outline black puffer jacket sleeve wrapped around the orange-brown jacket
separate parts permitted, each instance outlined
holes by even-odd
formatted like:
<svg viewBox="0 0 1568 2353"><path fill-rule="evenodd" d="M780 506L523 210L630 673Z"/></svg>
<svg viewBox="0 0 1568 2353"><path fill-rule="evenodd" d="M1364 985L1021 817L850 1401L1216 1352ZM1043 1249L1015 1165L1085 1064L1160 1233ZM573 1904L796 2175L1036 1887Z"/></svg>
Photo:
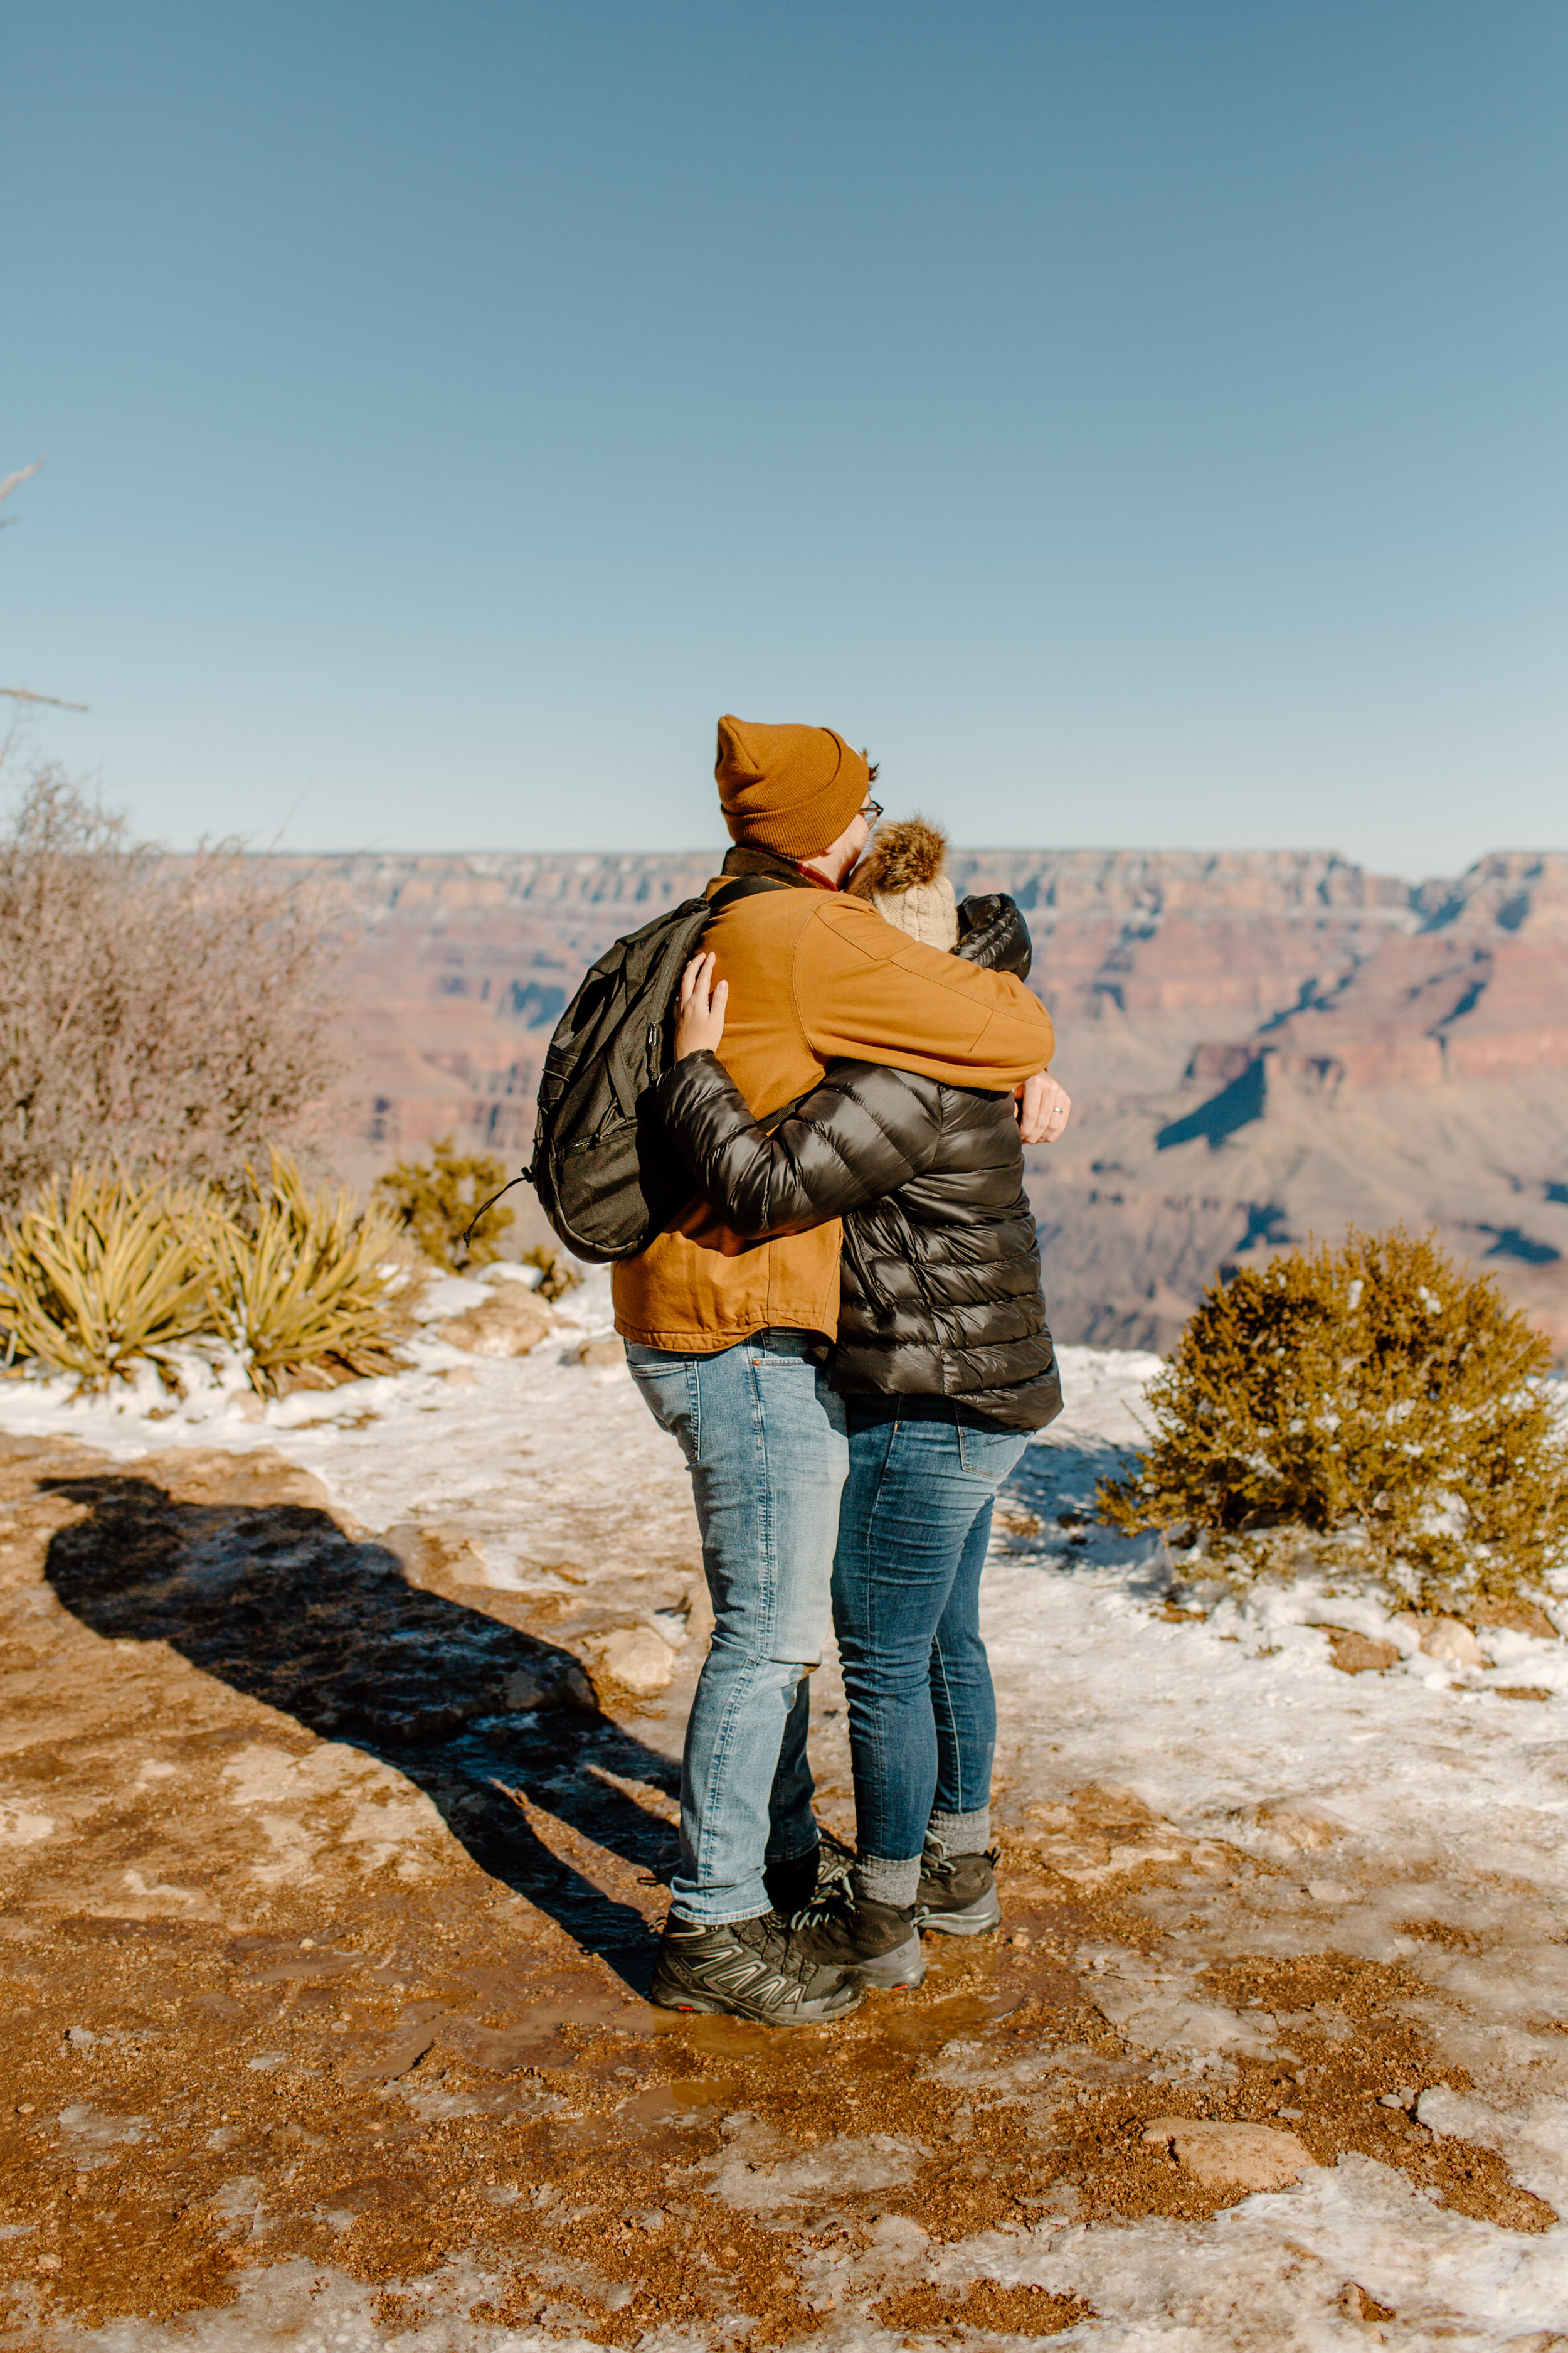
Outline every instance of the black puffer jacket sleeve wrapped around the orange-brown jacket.
<svg viewBox="0 0 1568 2353"><path fill-rule="evenodd" d="M940 1087L872 1061L839 1061L773 1134L717 1054L686 1054L658 1108L724 1224L745 1240L804 1233L893 1193L936 1158Z"/></svg>

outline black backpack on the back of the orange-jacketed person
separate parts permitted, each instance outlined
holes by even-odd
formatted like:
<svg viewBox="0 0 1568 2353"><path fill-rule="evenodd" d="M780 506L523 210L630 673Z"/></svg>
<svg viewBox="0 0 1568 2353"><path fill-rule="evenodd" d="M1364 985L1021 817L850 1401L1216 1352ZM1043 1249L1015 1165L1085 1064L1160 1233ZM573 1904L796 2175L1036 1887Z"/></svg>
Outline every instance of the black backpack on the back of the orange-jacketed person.
<svg viewBox="0 0 1568 2353"><path fill-rule="evenodd" d="M741 875L712 899L682 899L607 948L559 1016L538 1080L534 1160L512 1184L534 1186L574 1259L635 1259L691 1200L691 1169L654 1106L670 1068L675 991L722 908L788 887Z"/></svg>

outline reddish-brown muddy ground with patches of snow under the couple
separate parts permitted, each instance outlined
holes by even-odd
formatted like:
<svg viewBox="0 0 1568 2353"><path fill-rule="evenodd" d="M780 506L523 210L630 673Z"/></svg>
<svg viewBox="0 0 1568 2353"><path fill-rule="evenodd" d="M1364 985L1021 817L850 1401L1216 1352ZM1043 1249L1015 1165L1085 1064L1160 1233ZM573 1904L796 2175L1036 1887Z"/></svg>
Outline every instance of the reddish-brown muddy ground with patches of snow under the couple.
<svg viewBox="0 0 1568 2353"><path fill-rule="evenodd" d="M1549 1621L1182 1586L1088 1518L1150 1360L1070 1351L990 1579L1004 1932L668 2017L679 1461L592 1294L416 1353L0 1398L0 2344L1568 2344Z"/></svg>

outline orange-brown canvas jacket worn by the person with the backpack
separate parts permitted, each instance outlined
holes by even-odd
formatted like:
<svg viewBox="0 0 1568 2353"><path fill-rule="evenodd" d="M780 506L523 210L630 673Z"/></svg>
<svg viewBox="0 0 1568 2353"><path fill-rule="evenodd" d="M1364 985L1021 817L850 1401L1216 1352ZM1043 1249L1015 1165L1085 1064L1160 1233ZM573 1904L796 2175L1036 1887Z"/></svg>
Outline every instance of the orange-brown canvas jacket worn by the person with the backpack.
<svg viewBox="0 0 1568 2353"><path fill-rule="evenodd" d="M722 889L708 885L708 894ZM811 887L757 892L705 939L729 981L719 1061L766 1118L830 1061L884 1061L952 1087L1016 1087L1044 1071L1051 1014L1023 981L926 948L863 899ZM839 1221L745 1245L712 1212L661 1233L611 1271L616 1332L708 1355L780 1325L839 1329Z"/></svg>

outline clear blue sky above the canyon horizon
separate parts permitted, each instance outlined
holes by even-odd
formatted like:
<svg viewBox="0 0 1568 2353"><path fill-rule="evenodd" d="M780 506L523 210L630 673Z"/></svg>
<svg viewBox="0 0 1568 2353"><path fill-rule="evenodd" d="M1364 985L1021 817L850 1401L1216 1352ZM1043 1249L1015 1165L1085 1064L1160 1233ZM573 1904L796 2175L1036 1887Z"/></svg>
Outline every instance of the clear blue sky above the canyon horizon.
<svg viewBox="0 0 1568 2353"><path fill-rule="evenodd" d="M1563 0L0 5L0 685L172 840L1568 840Z"/></svg>

